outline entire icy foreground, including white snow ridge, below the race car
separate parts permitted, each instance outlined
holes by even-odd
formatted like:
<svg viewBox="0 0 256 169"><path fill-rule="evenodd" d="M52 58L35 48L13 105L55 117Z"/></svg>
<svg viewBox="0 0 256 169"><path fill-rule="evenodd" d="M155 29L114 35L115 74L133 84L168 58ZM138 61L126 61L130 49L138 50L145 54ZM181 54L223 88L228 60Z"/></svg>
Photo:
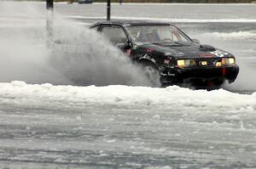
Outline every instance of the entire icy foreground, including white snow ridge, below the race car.
<svg viewBox="0 0 256 169"><path fill-rule="evenodd" d="M255 168L256 93L0 83L0 168Z"/></svg>

